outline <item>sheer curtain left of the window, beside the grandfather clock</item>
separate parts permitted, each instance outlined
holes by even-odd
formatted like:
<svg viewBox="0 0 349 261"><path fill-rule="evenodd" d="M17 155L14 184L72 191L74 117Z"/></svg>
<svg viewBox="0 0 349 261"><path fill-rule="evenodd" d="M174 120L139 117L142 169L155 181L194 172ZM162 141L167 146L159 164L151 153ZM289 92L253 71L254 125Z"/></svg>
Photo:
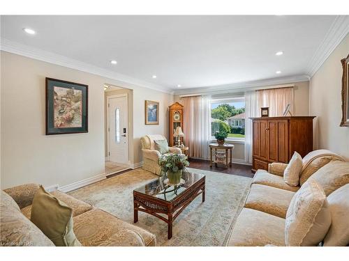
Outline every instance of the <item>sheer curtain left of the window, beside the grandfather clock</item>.
<svg viewBox="0 0 349 261"><path fill-rule="evenodd" d="M189 157L209 158L211 106L209 96L181 98L184 105L184 143L189 146Z"/></svg>

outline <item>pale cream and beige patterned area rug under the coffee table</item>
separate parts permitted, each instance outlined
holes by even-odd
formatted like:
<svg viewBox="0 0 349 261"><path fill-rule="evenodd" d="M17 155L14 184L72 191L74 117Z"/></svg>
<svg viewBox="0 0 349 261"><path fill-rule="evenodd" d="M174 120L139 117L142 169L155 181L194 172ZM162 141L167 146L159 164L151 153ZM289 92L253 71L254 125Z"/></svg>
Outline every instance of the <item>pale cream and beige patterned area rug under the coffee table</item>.
<svg viewBox="0 0 349 261"><path fill-rule="evenodd" d="M179 214L173 223L172 238L167 238L167 223L144 212L138 212L135 226L156 235L158 246L224 246L244 205L251 178L195 168L189 171L206 175L206 200L202 203L198 196ZM157 177L137 168L69 194L133 223L133 189Z"/></svg>

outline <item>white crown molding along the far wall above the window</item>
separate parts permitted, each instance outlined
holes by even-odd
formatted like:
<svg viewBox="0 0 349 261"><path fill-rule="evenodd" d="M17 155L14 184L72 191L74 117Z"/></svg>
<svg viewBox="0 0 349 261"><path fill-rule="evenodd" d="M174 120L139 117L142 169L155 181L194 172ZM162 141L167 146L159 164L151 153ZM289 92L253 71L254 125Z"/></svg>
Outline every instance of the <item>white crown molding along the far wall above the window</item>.
<svg viewBox="0 0 349 261"><path fill-rule="evenodd" d="M236 84L226 84L221 86L209 86L203 88L188 88L183 90L175 90L174 95L209 95L209 94L223 94L223 93L238 93L247 90L256 90L258 88L265 88L272 86L272 88L281 87L286 84L294 84L299 81L309 81L308 75L293 75L289 77L279 77L271 79L262 79L258 81L245 81Z"/></svg>

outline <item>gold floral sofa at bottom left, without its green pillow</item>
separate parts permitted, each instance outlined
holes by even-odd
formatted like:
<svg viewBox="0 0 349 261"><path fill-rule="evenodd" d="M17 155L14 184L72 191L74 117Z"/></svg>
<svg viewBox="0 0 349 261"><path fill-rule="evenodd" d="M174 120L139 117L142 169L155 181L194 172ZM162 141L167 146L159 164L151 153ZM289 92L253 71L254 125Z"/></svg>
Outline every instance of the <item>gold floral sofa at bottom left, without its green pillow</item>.
<svg viewBox="0 0 349 261"><path fill-rule="evenodd" d="M1 191L0 246L54 246L30 221L37 184ZM73 209L73 230L83 246L156 246L155 235L60 191L52 195Z"/></svg>

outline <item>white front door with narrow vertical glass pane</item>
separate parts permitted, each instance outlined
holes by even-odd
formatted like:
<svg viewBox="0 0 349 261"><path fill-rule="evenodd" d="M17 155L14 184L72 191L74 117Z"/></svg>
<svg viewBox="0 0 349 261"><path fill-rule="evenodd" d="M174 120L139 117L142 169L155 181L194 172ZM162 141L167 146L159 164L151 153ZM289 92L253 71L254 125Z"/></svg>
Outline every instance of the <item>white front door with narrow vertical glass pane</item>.
<svg viewBox="0 0 349 261"><path fill-rule="evenodd" d="M127 95L107 97L108 156L119 164L128 164Z"/></svg>

